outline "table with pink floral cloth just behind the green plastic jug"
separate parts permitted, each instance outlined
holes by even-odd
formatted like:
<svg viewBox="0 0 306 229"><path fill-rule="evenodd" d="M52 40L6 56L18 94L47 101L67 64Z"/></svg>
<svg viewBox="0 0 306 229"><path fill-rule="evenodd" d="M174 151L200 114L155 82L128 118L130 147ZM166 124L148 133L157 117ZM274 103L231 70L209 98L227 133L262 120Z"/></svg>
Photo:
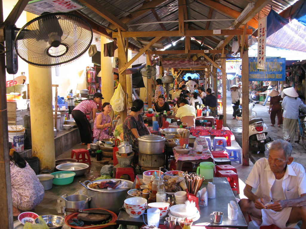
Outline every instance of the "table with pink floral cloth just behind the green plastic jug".
<svg viewBox="0 0 306 229"><path fill-rule="evenodd" d="M178 154L175 149L173 149L174 158L176 160L176 170L182 170L185 162L214 162L214 158L208 148L207 140L204 137L197 137L196 141L203 146L202 154L197 154L196 150L191 150L188 154Z"/></svg>

